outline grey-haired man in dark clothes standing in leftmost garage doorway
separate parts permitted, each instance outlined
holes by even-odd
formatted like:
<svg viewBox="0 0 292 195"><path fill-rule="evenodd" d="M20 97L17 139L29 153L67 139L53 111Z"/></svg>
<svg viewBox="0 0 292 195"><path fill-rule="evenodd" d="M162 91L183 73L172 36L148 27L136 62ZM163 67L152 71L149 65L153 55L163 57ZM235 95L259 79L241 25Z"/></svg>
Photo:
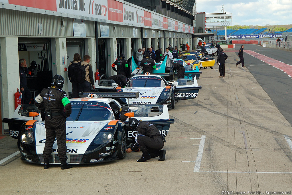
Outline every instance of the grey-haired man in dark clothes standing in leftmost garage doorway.
<svg viewBox="0 0 292 195"><path fill-rule="evenodd" d="M32 93L27 88L26 75L28 74L28 68L25 59L19 60L19 79L20 79L20 91L22 93L22 104L29 104L32 98Z"/></svg>

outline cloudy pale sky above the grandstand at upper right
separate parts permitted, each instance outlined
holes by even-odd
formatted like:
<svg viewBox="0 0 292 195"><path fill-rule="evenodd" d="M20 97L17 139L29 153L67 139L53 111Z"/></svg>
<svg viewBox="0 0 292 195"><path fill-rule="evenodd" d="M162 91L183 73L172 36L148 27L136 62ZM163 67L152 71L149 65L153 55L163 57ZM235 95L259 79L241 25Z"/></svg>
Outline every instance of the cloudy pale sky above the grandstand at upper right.
<svg viewBox="0 0 292 195"><path fill-rule="evenodd" d="M292 0L197 0L197 12L232 13L232 25L292 24Z"/></svg>

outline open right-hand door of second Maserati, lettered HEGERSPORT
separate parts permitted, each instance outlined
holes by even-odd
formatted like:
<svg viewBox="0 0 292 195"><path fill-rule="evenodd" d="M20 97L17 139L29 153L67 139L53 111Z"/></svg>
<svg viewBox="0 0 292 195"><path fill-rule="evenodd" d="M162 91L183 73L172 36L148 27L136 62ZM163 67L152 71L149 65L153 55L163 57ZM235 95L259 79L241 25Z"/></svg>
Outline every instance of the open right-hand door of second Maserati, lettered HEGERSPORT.
<svg viewBox="0 0 292 195"><path fill-rule="evenodd" d="M194 78L178 79L172 84L174 86L175 101L195 99L199 94L199 89L202 89L202 87L198 86L197 80Z"/></svg>

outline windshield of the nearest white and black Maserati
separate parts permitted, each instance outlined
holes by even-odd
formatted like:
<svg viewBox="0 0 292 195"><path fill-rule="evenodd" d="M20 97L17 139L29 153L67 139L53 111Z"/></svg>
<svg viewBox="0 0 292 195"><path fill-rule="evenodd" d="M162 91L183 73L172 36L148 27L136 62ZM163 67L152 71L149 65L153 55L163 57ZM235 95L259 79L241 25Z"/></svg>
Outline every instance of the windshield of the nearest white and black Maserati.
<svg viewBox="0 0 292 195"><path fill-rule="evenodd" d="M109 108L99 105L72 105L72 113L67 121L102 121L114 120Z"/></svg>

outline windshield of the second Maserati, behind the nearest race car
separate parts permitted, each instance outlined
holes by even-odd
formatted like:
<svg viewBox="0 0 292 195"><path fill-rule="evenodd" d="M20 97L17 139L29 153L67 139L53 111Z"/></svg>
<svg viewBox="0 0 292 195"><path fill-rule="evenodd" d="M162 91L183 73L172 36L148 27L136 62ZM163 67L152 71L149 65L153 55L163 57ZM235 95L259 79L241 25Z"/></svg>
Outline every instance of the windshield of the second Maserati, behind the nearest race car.
<svg viewBox="0 0 292 195"><path fill-rule="evenodd" d="M165 87L165 84L159 77L135 77L127 83L126 87Z"/></svg>

